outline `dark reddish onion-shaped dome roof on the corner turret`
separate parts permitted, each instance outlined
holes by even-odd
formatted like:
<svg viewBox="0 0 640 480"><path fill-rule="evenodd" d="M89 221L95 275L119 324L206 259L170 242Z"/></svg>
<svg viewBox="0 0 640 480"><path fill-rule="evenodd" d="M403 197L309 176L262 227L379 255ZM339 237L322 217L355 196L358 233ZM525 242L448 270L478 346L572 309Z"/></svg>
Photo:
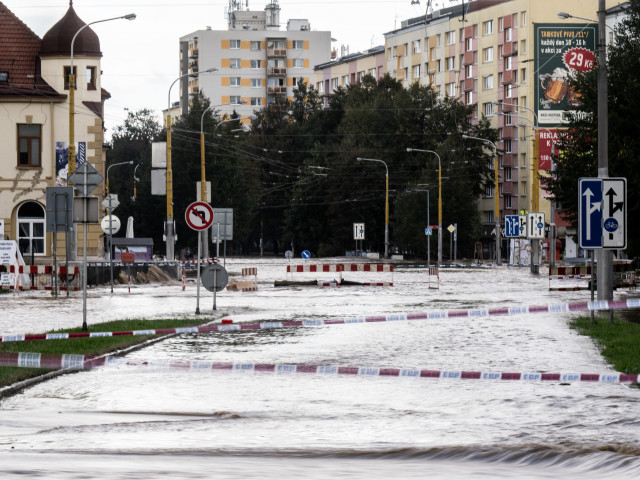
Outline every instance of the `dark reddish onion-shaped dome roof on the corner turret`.
<svg viewBox="0 0 640 480"><path fill-rule="evenodd" d="M73 2L69 2L67 13L49 29L42 37L40 55L47 56L71 56L71 40L78 31L85 26L80 17L73 9ZM74 55L87 55L91 57L102 57L100 51L100 39L91 30L91 27L84 28L76 37L73 43Z"/></svg>

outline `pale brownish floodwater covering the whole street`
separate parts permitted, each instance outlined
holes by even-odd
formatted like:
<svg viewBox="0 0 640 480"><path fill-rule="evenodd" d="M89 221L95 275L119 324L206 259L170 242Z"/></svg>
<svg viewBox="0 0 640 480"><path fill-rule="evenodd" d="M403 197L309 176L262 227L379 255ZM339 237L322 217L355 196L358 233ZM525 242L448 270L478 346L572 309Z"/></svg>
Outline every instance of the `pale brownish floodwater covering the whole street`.
<svg viewBox="0 0 640 480"><path fill-rule="evenodd" d="M323 263L344 263L331 259ZM299 263L299 262L296 262ZM315 262L314 262L315 263ZM257 267L256 292L201 289L201 317L240 322L585 301L549 291L546 268L348 272L391 287L276 288L286 261ZM253 279L253 278L251 278ZM436 279L431 278L431 286ZM622 292L623 293L623 292ZM82 297L0 296L0 335L82 324ZM89 293L89 327L120 318L193 316L196 286ZM589 382L449 380L170 368L168 361L482 372L612 372L569 313L429 318L167 338L131 362L65 375L0 400L3 478L638 478L640 390ZM164 362L163 361L167 361ZM151 366L135 365L142 362ZM163 368L162 365L165 365Z"/></svg>

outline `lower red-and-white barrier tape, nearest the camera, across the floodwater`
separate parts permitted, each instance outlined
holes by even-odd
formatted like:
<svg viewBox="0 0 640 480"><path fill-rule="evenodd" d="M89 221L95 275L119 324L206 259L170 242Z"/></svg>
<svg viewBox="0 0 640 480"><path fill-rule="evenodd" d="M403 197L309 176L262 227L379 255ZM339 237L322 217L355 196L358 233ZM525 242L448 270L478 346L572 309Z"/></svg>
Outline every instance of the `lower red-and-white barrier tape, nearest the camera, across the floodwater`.
<svg viewBox="0 0 640 480"><path fill-rule="evenodd" d="M483 370L427 370L414 368L354 367L339 365L310 365L283 363L213 362L207 360L137 360L122 357L85 357L84 355L60 355L25 352L0 354L0 366L25 368L92 369L111 366L147 367L163 370L211 370L244 373L316 375L351 375L367 377L409 377L443 380L488 380L524 382L590 382L590 383L638 383L637 373L543 373L496 372Z"/></svg>

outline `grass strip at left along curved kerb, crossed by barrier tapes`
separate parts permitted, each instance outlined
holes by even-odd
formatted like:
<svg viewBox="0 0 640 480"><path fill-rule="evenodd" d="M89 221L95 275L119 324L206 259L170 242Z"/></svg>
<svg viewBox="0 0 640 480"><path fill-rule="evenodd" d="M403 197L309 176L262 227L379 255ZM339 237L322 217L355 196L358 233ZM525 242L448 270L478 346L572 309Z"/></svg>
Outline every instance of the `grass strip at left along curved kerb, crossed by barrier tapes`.
<svg viewBox="0 0 640 480"><path fill-rule="evenodd" d="M209 321L209 320L207 320ZM202 325L198 319L116 320L89 326L92 332L125 332L130 330L159 330ZM82 328L55 330L47 333L81 332ZM76 355L103 355L127 348L157 335L126 335L114 337L69 338L60 340L29 340L25 342L2 342L0 352L34 352ZM43 368L0 367L0 387L37 377L51 370Z"/></svg>

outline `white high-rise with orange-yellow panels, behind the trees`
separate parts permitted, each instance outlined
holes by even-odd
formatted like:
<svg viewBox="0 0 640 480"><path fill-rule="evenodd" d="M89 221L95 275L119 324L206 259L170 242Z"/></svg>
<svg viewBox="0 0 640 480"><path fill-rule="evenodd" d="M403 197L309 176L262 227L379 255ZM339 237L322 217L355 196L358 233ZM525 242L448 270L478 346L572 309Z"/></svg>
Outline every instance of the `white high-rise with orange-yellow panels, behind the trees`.
<svg viewBox="0 0 640 480"><path fill-rule="evenodd" d="M264 11L244 10L242 2L230 0L227 30L198 30L180 42L181 75L198 73L189 77L181 101L202 90L222 114L235 110L245 123L278 96L292 99L300 82L312 85L314 65L331 58L331 32L311 30L307 19L290 19L280 30L277 0ZM211 68L217 71L204 73Z"/></svg>

